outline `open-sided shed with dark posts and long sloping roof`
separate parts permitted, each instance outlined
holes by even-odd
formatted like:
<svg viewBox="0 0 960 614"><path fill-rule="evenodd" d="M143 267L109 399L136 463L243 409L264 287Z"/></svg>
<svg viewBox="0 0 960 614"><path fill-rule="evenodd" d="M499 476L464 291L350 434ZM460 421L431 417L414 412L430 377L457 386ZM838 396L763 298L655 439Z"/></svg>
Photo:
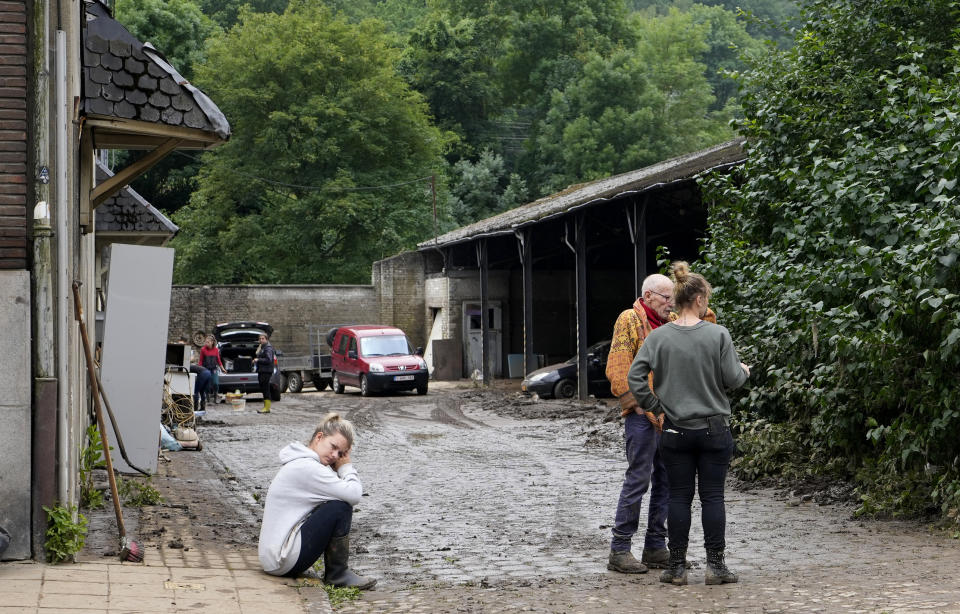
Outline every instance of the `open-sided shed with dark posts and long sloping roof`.
<svg viewBox="0 0 960 614"><path fill-rule="evenodd" d="M707 233L698 178L745 159L733 140L575 185L421 243L428 339L462 342L462 374L485 381L522 355L522 370L609 338L617 314L671 259L695 260Z"/></svg>

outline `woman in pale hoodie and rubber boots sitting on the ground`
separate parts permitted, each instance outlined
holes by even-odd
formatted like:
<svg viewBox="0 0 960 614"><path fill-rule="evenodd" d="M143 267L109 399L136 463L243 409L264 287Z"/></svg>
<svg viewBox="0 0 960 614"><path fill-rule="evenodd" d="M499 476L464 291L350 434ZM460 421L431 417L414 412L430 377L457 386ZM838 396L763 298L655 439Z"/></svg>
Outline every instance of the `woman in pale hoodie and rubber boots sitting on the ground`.
<svg viewBox="0 0 960 614"><path fill-rule="evenodd" d="M280 451L283 467L270 483L260 528L260 564L268 574L296 577L323 555L323 581L373 588L376 580L350 571L350 522L363 485L350 463L353 425L324 416L306 445Z"/></svg>

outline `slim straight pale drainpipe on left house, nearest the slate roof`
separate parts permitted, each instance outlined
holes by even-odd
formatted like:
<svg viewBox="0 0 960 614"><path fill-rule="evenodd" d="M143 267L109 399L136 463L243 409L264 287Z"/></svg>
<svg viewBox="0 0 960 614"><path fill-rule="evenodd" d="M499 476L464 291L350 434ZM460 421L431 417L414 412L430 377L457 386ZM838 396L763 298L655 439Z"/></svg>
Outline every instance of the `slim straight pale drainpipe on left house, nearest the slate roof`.
<svg viewBox="0 0 960 614"><path fill-rule="evenodd" d="M57 309L55 312L57 319L57 379L60 381L57 387L57 465L59 476L57 479L57 493L60 503L68 503L68 493L70 492L69 483L69 465L67 455L69 454L69 412L70 412L70 386L68 385L68 361L67 354L70 348L70 331L67 322L70 317L70 290L69 290L69 272L72 267L69 265L68 254L70 251L69 235L67 234L67 218L69 216L69 207L67 204L67 130L70 117L67 107L67 33L63 30L57 30L56 33L56 69L54 78L57 83L56 92L56 144L57 144L57 185L56 185L56 204L54 207L56 216L56 235L57 235Z"/></svg>

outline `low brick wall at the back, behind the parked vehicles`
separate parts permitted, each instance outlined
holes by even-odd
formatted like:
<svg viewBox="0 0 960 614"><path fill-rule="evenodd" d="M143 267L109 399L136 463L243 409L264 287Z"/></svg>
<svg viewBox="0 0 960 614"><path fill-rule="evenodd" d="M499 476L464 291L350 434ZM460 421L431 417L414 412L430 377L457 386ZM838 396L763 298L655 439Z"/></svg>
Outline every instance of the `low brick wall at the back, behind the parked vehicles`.
<svg viewBox="0 0 960 614"><path fill-rule="evenodd" d="M288 355L306 353L307 325L393 324L380 320L373 286L173 286L168 336L193 340L220 322L256 320L274 328L271 342Z"/></svg>

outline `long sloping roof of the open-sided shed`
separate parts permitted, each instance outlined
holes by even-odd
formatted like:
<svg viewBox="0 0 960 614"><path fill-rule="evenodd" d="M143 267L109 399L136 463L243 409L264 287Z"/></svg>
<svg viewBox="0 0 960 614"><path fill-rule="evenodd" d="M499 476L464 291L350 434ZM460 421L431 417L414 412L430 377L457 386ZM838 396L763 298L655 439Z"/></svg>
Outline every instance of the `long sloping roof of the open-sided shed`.
<svg viewBox="0 0 960 614"><path fill-rule="evenodd" d="M677 181L686 181L706 171L743 162L744 139L738 138L621 175L582 183L526 205L442 234L420 243L420 249L462 243L484 236L510 234L516 228L569 213L594 203L627 194L639 194Z"/></svg>

